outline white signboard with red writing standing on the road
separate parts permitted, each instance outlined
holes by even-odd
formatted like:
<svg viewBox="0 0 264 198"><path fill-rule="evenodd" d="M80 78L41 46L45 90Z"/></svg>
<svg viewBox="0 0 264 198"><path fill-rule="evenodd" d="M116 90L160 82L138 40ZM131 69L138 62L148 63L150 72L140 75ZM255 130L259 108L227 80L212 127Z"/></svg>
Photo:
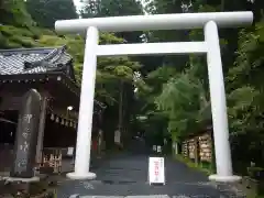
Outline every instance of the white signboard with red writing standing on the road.
<svg viewBox="0 0 264 198"><path fill-rule="evenodd" d="M164 157L148 158L148 183L165 185Z"/></svg>

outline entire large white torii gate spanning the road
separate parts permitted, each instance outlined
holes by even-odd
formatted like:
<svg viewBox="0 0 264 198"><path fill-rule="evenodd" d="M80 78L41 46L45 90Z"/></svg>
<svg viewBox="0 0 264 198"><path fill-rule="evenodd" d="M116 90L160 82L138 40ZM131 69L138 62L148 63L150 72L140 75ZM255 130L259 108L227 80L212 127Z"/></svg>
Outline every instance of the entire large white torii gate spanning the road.
<svg viewBox="0 0 264 198"><path fill-rule="evenodd" d="M250 25L252 12L207 12L157 15L131 15L56 21L55 29L62 33L86 33L85 61L81 81L79 120L73 179L94 179L89 172L91 125L95 97L97 56L207 54L210 84L211 113L216 148L217 175L209 179L237 182L232 173L229 144L226 91L219 46L219 28ZM204 42L143 43L98 45L98 33L148 30L204 29Z"/></svg>

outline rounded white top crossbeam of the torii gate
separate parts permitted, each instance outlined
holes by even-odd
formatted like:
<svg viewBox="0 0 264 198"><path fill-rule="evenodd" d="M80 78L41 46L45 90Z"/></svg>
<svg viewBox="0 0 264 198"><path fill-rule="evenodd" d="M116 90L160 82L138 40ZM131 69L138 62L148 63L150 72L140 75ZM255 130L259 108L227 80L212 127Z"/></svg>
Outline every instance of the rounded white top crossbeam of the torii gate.
<svg viewBox="0 0 264 198"><path fill-rule="evenodd" d="M55 30L64 33L86 32L96 26L101 32L200 29L215 21L219 28L239 28L252 23L252 12L206 12L156 15L130 15L56 21Z"/></svg>

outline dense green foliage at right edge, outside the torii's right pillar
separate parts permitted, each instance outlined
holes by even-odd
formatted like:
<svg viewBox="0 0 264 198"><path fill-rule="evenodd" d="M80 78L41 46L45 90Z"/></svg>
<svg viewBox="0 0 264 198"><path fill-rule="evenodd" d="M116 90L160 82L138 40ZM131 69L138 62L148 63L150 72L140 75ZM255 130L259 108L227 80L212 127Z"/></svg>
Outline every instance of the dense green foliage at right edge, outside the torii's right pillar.
<svg viewBox="0 0 264 198"><path fill-rule="evenodd" d="M234 66L228 75L228 112L233 152L241 147L258 165L263 165L264 145L264 92L263 92L263 50L264 24L242 30L239 34L239 48ZM240 161L248 161L246 156ZM242 160L241 160L242 157Z"/></svg>

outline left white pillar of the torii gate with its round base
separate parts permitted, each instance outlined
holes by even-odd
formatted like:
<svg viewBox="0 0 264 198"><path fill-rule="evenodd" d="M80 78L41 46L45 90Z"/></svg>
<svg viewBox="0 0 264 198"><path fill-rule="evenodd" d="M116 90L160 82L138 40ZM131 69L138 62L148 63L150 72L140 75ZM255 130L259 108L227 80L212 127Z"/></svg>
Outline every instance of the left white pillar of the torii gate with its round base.
<svg viewBox="0 0 264 198"><path fill-rule="evenodd" d="M79 123L76 142L75 172L68 173L72 179L94 179L96 174L90 172L90 145L97 70L98 30L90 26L86 34L85 62L79 106Z"/></svg>

